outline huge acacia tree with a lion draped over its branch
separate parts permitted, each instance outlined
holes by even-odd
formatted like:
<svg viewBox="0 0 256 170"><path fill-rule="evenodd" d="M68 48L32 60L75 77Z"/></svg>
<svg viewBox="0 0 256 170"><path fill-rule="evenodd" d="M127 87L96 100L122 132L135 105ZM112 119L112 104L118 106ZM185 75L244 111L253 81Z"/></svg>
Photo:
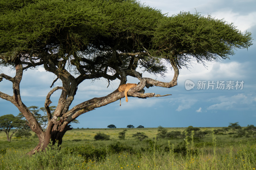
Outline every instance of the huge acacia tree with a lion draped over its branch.
<svg viewBox="0 0 256 170"><path fill-rule="evenodd" d="M236 48L252 45L251 33L243 34L224 20L188 12L168 17L134 0L0 0L0 11L0 64L16 70L14 77L0 74L0 81L12 82L13 88L12 96L0 92L0 97L20 110L39 138L29 154L43 151L50 140L61 144L79 115L124 97L116 89L69 108L83 81L119 79L122 85L132 76L140 84L129 96L161 97L165 95L140 92L145 86L173 87L182 66L226 59ZM51 87L57 79L62 82L46 96L45 130L20 95L23 72L38 66L57 77ZM161 76L171 67L174 77L171 82L142 77L138 66ZM56 90L61 94L51 115L50 97Z"/></svg>

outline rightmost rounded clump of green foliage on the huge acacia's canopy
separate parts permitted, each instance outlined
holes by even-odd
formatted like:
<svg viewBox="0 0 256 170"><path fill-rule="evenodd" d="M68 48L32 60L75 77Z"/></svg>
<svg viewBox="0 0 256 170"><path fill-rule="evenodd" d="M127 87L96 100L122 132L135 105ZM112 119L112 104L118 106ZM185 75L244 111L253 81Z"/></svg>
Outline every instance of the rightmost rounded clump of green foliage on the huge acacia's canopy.
<svg viewBox="0 0 256 170"><path fill-rule="evenodd" d="M179 64L183 66L193 59L201 63L219 57L226 59L228 55L234 55L235 48L252 45L251 33L243 34L223 19L210 15L204 17L197 12L180 12L172 17L164 17L154 33L156 48L161 47L164 55L175 52Z"/></svg>

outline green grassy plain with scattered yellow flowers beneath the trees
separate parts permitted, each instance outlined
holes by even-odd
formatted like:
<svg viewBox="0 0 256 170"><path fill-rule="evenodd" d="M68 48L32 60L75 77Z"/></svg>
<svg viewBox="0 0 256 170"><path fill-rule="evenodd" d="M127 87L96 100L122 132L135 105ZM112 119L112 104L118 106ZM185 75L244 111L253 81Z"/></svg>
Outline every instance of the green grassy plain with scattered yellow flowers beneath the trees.
<svg viewBox="0 0 256 170"><path fill-rule="evenodd" d="M165 128L167 131L186 128ZM214 130L216 128L200 128ZM125 140L119 140L123 129L73 129L63 137L61 150L26 155L38 139L15 138L6 141L0 133L0 169L255 169L256 138L234 134L207 134L204 139L158 139L157 128L127 129ZM95 141L101 132L108 141ZM148 138L139 141L132 134L143 132ZM231 132L231 131L230 131ZM34 134L33 134L34 135Z"/></svg>

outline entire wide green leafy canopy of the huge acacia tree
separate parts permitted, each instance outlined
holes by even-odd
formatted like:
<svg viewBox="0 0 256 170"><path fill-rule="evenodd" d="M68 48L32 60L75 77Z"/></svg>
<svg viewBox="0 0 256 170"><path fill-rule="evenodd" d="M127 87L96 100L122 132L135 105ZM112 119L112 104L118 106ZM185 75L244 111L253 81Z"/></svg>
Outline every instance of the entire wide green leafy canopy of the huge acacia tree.
<svg viewBox="0 0 256 170"><path fill-rule="evenodd" d="M78 66L79 54L97 53L108 61L114 47L119 52L147 49L150 55L142 57L140 64L150 73L164 75L163 58L174 57L186 66L194 60L226 59L236 48L252 45L251 33L243 34L223 19L198 12L168 17L134 0L1 0L0 6L2 64L12 64L16 53L25 56L33 50L58 52L58 57ZM127 67L129 57L123 58Z"/></svg>

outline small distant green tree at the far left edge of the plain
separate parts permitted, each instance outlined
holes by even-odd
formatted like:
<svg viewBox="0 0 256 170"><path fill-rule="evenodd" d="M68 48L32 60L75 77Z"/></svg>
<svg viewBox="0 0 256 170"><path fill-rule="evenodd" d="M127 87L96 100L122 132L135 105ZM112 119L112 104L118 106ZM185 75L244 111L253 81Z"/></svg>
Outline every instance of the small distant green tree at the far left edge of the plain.
<svg viewBox="0 0 256 170"><path fill-rule="evenodd" d="M7 141L11 141L12 135L17 133L20 129L26 126L25 121L20 119L18 116L3 115L0 116L0 133L4 131L6 133ZM10 130L14 128L14 131L9 136Z"/></svg>

